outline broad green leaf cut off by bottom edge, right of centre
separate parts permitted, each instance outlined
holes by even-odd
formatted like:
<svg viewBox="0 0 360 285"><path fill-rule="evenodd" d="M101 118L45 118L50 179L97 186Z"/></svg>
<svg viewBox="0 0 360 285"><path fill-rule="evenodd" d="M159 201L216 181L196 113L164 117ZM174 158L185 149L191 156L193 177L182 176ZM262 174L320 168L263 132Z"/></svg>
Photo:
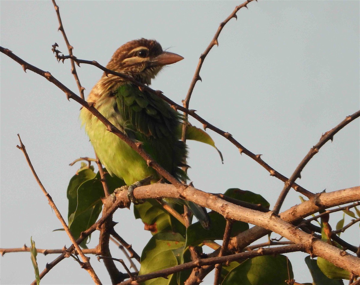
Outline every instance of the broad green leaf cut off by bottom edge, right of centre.
<svg viewBox="0 0 360 285"><path fill-rule="evenodd" d="M276 268L276 270L274 270ZM290 273L290 276L289 276ZM290 260L285 255L264 255L247 259L235 267L224 278L221 284L263 285L284 284L285 280L293 279L293 271Z"/></svg>

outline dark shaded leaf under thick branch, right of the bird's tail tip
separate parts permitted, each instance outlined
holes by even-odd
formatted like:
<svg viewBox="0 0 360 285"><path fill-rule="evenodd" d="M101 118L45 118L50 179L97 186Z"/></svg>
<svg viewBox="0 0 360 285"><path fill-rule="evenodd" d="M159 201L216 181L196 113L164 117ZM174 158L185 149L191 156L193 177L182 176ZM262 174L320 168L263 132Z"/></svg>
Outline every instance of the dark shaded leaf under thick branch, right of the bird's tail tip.
<svg viewBox="0 0 360 285"><path fill-rule="evenodd" d="M222 240L224 237L226 220L225 218L211 211L209 213L211 227L205 230L199 222L191 224L186 231L186 247L189 245L199 245L204 240ZM234 221L231 228L230 236L236 236L238 233L249 229L249 224L239 221Z"/></svg>

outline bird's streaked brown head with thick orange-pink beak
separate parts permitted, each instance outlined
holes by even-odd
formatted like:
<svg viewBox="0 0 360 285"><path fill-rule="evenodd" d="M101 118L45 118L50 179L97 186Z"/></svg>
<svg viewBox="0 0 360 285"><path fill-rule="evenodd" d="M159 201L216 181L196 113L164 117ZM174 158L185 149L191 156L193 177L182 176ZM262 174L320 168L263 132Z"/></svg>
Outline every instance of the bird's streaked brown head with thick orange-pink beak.
<svg viewBox="0 0 360 285"><path fill-rule="evenodd" d="M106 67L150 84L163 66L181 59L181 55L163 51L156 40L139 39L120 46Z"/></svg>

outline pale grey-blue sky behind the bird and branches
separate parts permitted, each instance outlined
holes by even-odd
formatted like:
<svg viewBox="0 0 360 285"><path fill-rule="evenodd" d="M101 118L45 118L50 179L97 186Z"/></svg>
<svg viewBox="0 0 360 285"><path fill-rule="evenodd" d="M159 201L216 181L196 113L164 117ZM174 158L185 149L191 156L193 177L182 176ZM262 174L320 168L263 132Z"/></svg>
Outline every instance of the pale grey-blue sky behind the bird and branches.
<svg viewBox="0 0 360 285"><path fill-rule="evenodd" d="M57 1L73 53L106 65L114 51L129 40L156 39L184 60L164 68L153 81L167 97L181 104L199 55L219 23L242 1ZM70 62L57 63L51 45L67 53L50 1L0 1L1 46L51 74L78 93ZM290 177L321 134L359 110L359 1L260 1L237 13L205 59L190 108L229 132L275 170ZM102 75L94 66L77 67L85 96ZM67 101L55 85L1 54L1 247L17 248L30 237L37 248L71 245L16 148L22 141L32 164L64 217L66 189L81 156L94 156L80 129L80 105ZM197 121L190 122L201 127ZM359 120L326 143L297 181L312 192L359 185ZM224 164L210 146L189 142L188 164L194 186L212 193L237 187L260 193L273 207L283 182L225 138L208 130L222 151ZM290 191L282 210L299 204ZM330 219L335 227L341 218ZM114 215L116 230L141 254L151 235L131 211ZM346 223L350 222L347 217ZM92 236L96 245L98 234ZM273 234L272 237L278 237ZM359 245L359 227L342 235ZM124 258L112 245L113 257ZM303 259L289 255L297 282L311 282ZM58 255L38 255L39 269ZM108 274L95 257L91 264L103 284ZM28 284L34 279L30 253L8 253L0 258L1 284ZM119 265L121 271L123 269ZM203 284L212 284L207 277ZM90 284L85 270L65 259L42 279L43 284Z"/></svg>

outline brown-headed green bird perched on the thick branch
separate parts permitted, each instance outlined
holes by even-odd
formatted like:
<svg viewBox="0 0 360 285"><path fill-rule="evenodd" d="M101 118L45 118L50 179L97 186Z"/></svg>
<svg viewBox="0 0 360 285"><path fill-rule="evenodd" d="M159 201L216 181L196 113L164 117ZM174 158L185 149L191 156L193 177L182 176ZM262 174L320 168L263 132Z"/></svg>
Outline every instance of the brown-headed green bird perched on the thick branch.
<svg viewBox="0 0 360 285"><path fill-rule="evenodd" d="M106 68L150 85L164 66L182 59L181 55L164 51L156 40L141 38L120 46ZM167 102L129 80L107 73L91 89L87 102L94 102L95 108L110 123L129 138L140 142L143 149L176 179L188 179L181 168L187 166L187 148L177 135L179 126L184 123L183 117ZM127 186L147 177L152 177L152 183L161 179L135 150L109 132L86 108L81 109L80 120L99 160L110 175L122 178ZM210 228L207 211L193 202L184 202L201 225Z"/></svg>

